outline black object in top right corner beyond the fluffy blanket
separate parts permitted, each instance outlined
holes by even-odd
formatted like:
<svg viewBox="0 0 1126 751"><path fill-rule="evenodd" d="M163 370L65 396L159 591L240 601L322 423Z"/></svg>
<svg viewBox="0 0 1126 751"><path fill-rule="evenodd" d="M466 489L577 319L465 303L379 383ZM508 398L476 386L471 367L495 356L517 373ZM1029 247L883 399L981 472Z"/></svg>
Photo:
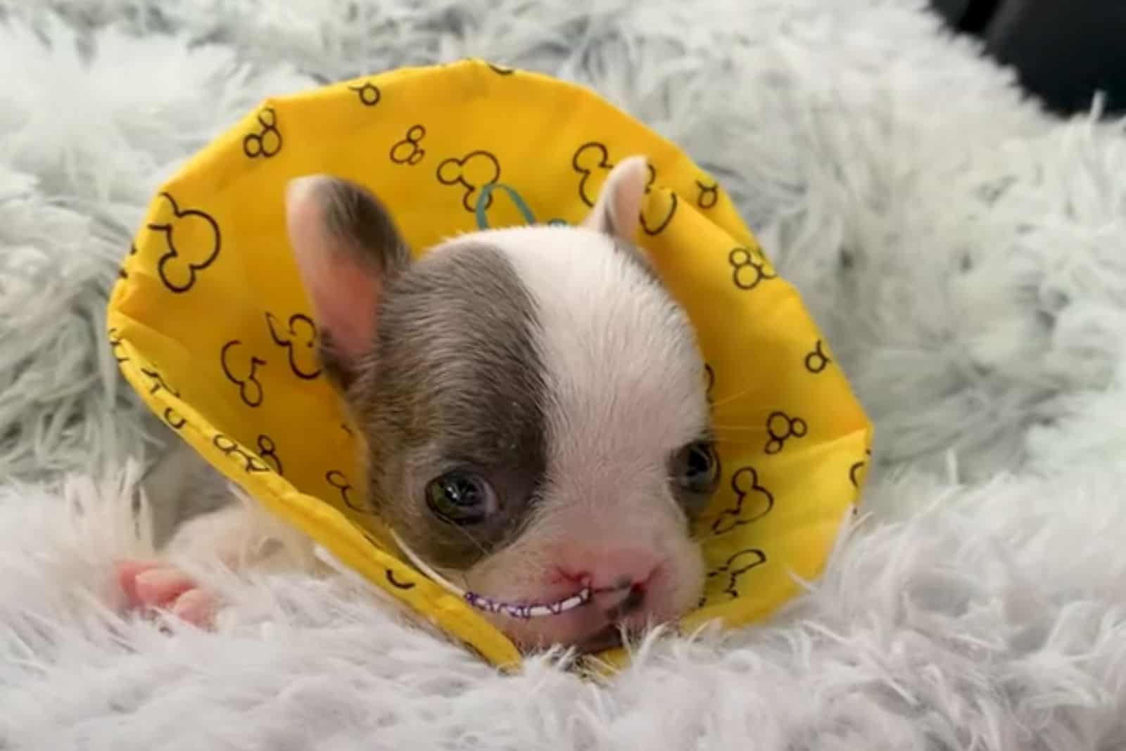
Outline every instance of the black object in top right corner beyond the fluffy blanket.
<svg viewBox="0 0 1126 751"><path fill-rule="evenodd" d="M1101 91L1108 114L1126 114L1126 1L930 2L953 28L981 37L1053 111L1087 111Z"/></svg>

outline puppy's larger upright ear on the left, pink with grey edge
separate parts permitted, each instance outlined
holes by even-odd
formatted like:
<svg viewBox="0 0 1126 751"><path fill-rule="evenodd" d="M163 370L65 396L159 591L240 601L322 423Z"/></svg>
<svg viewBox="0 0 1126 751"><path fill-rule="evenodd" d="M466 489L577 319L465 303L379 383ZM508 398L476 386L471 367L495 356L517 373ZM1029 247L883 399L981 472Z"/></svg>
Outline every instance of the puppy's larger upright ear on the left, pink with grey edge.
<svg viewBox="0 0 1126 751"><path fill-rule="evenodd" d="M383 205L347 180L310 175L285 193L286 229L313 306L325 373L347 388L375 354L386 282L410 264L410 252Z"/></svg>

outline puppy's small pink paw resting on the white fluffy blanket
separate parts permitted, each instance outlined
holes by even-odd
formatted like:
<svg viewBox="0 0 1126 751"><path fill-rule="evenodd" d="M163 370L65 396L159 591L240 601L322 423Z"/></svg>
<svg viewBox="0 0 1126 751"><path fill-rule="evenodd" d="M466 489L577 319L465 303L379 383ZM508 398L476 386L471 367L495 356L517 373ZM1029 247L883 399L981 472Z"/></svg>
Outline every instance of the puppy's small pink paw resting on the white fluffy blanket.
<svg viewBox="0 0 1126 751"><path fill-rule="evenodd" d="M117 581L129 609L164 610L200 628L212 625L218 599L188 574L162 561L118 561Z"/></svg>

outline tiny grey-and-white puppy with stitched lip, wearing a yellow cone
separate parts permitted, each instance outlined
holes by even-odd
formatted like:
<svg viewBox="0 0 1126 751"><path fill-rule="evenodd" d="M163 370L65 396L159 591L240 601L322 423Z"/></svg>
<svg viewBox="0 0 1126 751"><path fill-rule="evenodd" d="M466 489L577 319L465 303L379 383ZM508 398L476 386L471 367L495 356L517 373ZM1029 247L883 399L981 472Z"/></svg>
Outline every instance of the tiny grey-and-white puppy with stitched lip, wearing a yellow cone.
<svg viewBox="0 0 1126 751"><path fill-rule="evenodd" d="M689 527L718 468L694 331L632 243L646 178L627 159L581 226L464 234L418 260L363 188L318 175L286 191L321 362L365 437L368 503L465 590L516 605L587 594L547 617L485 613L525 650L605 649L701 594ZM245 513L209 512L172 544L238 542ZM119 576L135 603L197 621L214 606L160 563Z"/></svg>

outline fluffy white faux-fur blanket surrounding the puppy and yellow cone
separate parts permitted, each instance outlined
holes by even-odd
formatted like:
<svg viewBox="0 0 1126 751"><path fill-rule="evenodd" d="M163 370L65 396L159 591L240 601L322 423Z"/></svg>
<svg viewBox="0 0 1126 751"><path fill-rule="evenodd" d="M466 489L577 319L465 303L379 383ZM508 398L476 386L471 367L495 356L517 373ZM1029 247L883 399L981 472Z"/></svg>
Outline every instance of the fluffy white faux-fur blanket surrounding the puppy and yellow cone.
<svg viewBox="0 0 1126 751"><path fill-rule="evenodd" d="M1126 748L1126 137L893 0L0 1L0 749ZM345 582L114 615L159 450L101 340L158 183L261 98L482 56L724 179L877 428L872 515L756 628L501 677Z"/></svg>

